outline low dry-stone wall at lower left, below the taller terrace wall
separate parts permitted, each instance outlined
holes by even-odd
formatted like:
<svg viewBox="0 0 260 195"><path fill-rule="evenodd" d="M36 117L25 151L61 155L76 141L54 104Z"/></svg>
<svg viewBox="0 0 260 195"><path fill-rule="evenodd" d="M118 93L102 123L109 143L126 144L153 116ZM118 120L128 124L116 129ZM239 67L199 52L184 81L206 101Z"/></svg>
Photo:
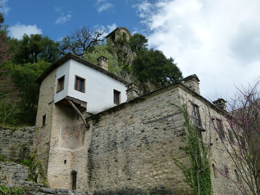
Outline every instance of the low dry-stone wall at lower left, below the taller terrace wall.
<svg viewBox="0 0 260 195"><path fill-rule="evenodd" d="M25 184L28 179L28 167L15 162L0 162L0 185Z"/></svg>

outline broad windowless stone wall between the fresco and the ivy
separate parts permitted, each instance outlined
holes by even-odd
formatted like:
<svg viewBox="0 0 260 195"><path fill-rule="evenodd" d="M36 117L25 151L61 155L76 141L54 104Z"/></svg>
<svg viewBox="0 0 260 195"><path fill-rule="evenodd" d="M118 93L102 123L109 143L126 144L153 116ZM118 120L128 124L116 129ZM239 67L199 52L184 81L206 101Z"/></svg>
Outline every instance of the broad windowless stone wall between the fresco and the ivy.
<svg viewBox="0 0 260 195"><path fill-rule="evenodd" d="M90 190L95 194L169 194L177 186L189 190L172 159L190 164L179 149L184 142L168 128L172 120L178 121L174 128L179 131L183 124L170 102L180 105L176 86L87 119L92 131L86 170Z"/></svg>

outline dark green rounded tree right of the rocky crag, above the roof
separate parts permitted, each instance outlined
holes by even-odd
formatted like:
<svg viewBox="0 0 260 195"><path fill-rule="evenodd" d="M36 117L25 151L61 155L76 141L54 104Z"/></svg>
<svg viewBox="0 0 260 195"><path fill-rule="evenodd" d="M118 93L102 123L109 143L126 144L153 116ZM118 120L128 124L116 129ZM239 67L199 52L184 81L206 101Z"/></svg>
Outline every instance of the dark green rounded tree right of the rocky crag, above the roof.
<svg viewBox="0 0 260 195"><path fill-rule="evenodd" d="M182 78L182 73L177 63L174 63L174 59L172 57L167 59L160 50L150 49L139 52L133 61L132 69L138 79L150 80L158 87Z"/></svg>

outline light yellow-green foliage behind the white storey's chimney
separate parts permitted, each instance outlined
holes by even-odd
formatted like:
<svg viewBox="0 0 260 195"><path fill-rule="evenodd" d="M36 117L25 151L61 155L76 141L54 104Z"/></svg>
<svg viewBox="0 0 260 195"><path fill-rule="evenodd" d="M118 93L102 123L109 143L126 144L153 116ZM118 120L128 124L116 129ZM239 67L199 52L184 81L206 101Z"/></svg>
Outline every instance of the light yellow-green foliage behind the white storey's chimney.
<svg viewBox="0 0 260 195"><path fill-rule="evenodd" d="M91 51L85 51L82 58L96 64L97 58L100 56L108 58L108 70L110 72L117 74L122 69L116 57L108 52L107 45L96 44Z"/></svg>

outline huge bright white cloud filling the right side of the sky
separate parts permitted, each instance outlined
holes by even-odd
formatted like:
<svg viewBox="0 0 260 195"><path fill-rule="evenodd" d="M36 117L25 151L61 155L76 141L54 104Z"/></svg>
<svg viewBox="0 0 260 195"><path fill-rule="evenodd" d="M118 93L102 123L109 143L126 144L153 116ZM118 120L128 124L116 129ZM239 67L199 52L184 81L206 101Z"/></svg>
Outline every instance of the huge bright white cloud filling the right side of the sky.
<svg viewBox="0 0 260 195"><path fill-rule="evenodd" d="M149 45L197 74L204 97L225 98L260 74L260 2L159 0L134 6ZM216 97L217 92L217 97Z"/></svg>

